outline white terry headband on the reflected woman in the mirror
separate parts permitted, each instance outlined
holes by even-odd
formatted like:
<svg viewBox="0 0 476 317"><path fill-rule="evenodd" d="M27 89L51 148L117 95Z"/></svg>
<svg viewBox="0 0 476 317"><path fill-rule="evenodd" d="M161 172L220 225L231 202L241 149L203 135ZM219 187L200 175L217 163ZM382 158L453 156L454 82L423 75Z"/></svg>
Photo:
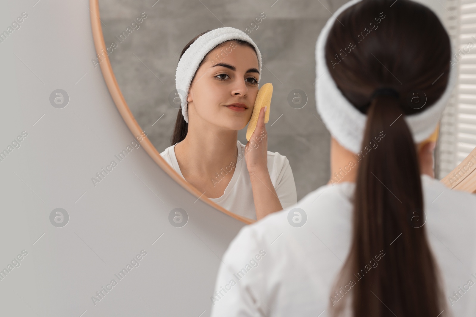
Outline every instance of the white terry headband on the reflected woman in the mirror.
<svg viewBox="0 0 476 317"><path fill-rule="evenodd" d="M177 71L175 73L175 86L177 88L178 95L180 96L182 115L185 122L188 123L188 88L192 82L192 78L197 72L198 65L205 56L215 48L218 44L226 42L230 39L239 39L252 44L258 55L258 81L261 79L261 52L256 46L255 42L242 30L224 27L211 30L199 38L197 38L189 48L183 53L182 57L178 61ZM226 52L225 53L229 53ZM221 58L221 56L219 57Z"/></svg>

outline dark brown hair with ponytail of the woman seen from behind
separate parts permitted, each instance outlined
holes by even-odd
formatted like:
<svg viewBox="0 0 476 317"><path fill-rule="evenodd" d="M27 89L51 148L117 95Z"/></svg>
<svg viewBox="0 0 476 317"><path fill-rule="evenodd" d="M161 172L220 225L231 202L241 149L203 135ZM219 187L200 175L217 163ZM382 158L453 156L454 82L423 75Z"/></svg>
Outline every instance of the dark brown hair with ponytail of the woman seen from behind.
<svg viewBox="0 0 476 317"><path fill-rule="evenodd" d="M382 132L385 138L358 163L352 240L331 294L341 295L333 315L349 298L349 289L339 287L353 280L354 317L436 317L446 304L423 226L417 151L405 116L431 107L444 92L450 39L433 11L411 0L363 0L337 19L325 47L327 67L347 100L367 114L362 148ZM381 87L399 96L371 98ZM427 98L419 109L407 101L415 91ZM365 276L357 277L362 270Z"/></svg>

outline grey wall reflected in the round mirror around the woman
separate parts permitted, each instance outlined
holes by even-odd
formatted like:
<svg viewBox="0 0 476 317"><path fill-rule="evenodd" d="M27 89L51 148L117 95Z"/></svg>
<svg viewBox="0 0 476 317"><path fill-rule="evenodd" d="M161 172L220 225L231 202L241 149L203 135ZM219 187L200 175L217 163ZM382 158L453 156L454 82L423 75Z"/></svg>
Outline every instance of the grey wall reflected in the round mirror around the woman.
<svg viewBox="0 0 476 317"><path fill-rule="evenodd" d="M114 75L159 153L171 146L180 108L175 73L182 49L206 30L233 27L247 33L261 52L259 87L273 85L266 124L268 151L288 159L297 200L326 184L330 138L316 110L314 52L329 16L323 5L333 11L346 0L149 2L101 0L99 8ZM100 57L92 60L98 71L100 62ZM238 131L244 145L247 127ZM213 175L209 178L212 183Z"/></svg>

